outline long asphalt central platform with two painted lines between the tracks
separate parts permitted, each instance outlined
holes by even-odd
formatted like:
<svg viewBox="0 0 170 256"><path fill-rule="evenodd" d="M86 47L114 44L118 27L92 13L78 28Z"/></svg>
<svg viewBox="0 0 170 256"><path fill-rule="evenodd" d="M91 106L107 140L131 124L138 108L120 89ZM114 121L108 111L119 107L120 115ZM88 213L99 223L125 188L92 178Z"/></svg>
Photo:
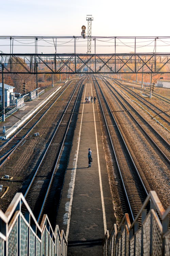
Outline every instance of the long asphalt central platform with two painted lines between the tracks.
<svg viewBox="0 0 170 256"><path fill-rule="evenodd" d="M86 84L56 223L68 239L68 255L102 255L102 240L115 222L97 105L85 103ZM92 164L88 168L88 148Z"/></svg>

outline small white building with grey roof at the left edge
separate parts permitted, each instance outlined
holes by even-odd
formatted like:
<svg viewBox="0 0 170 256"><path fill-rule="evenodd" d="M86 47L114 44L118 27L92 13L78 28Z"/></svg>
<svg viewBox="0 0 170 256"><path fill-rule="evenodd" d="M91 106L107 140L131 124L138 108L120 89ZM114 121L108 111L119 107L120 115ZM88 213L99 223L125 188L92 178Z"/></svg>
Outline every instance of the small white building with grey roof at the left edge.
<svg viewBox="0 0 170 256"><path fill-rule="evenodd" d="M5 90L5 106L9 106L10 103L12 104L14 102L14 90L15 87L4 84L4 90ZM2 102L2 83L0 83L0 102Z"/></svg>

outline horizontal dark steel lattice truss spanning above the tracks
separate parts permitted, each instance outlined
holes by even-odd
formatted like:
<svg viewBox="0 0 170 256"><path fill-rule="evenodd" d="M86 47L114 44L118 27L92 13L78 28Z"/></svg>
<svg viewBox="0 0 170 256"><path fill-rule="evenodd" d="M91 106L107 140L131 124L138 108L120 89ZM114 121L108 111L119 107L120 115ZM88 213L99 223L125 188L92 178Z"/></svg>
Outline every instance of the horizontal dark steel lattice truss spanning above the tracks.
<svg viewBox="0 0 170 256"><path fill-rule="evenodd" d="M0 54L0 73L170 73L166 54ZM38 65L38 68L37 68ZM46 68L44 70L42 67ZM84 71L84 68L88 68ZM166 69L165 69L166 68Z"/></svg>

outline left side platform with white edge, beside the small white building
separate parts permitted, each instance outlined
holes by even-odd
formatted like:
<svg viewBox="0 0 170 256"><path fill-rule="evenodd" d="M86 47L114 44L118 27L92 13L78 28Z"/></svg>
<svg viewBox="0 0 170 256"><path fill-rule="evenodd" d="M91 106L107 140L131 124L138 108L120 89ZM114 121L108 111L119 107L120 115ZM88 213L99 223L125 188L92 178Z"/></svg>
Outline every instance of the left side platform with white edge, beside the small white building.
<svg viewBox="0 0 170 256"><path fill-rule="evenodd" d="M63 83L64 84L64 83ZM45 88L45 92L36 98L35 100L24 102L24 106L17 112L5 119L5 122L0 123L0 136L8 138L13 131L25 121L34 110L38 108L42 103L51 97L51 95L58 90L63 84L54 84L54 87ZM21 120L20 120L21 119ZM6 133L3 134L3 126L5 126Z"/></svg>

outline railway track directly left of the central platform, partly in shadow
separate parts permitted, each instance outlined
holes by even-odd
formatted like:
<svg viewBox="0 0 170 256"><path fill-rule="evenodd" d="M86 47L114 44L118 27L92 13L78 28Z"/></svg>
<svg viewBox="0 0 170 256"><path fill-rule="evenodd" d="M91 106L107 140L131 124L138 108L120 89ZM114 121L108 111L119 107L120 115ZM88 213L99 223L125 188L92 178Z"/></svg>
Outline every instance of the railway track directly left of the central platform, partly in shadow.
<svg viewBox="0 0 170 256"><path fill-rule="evenodd" d="M47 197L49 197L53 189L51 188L51 185L54 185L53 183L55 183L54 174L55 177L58 174L57 165L63 152L63 145L70 127L72 116L77 116L77 112L74 113L74 110L75 106L77 105L82 84L83 81L79 82L74 91L74 94L70 98L64 114L60 120L60 123L58 123L55 128L54 134L49 142L46 151L43 154L43 157L41 158L41 161L39 162L38 167L36 168L30 184L25 184L27 190L24 193L24 197L26 197L26 200L34 213L34 216L37 218L38 221L41 218L44 207L51 207L51 205L49 205L49 201L48 204L46 204L46 199ZM78 104L80 104L80 102ZM60 177L59 180L60 186L62 186ZM54 189L56 189L56 187ZM24 188L22 190L24 190ZM54 204L52 203L52 205Z"/></svg>

